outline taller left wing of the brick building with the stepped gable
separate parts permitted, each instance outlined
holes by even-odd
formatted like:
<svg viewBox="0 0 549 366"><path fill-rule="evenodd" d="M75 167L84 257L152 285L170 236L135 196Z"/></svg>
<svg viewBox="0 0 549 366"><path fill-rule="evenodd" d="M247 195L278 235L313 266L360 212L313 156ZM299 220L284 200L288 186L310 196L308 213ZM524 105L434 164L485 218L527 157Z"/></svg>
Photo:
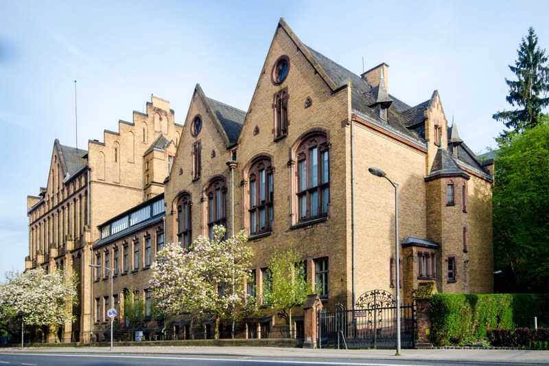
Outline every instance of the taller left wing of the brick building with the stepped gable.
<svg viewBox="0 0 549 366"><path fill-rule="evenodd" d="M182 130L170 103L154 96L147 113L134 112L132 122L119 121L118 127L118 132L105 130L103 142L90 140L87 151L56 140L47 186L27 197L25 268L72 268L78 275L76 320L62 327L62 341L89 341L89 264L100 239L97 225L163 192Z"/></svg>

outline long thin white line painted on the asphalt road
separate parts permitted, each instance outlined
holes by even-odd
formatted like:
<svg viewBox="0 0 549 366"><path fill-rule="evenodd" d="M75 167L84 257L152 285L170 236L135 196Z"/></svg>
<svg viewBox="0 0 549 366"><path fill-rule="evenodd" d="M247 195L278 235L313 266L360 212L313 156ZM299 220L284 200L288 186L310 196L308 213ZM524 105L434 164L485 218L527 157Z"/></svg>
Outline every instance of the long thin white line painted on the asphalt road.
<svg viewBox="0 0 549 366"><path fill-rule="evenodd" d="M247 363L292 363L292 364L299 364L299 365L345 365L345 366L402 366L401 363L363 363L363 362L327 362L327 361L299 361L299 360L269 360L269 359L261 359L261 360L253 360L253 359L246 359L243 360L242 356L235 356L235 358L200 358L200 357L163 357L163 356L125 356L125 355L115 355L115 354L31 354L31 353L12 353L12 355L20 355L20 356L65 356L65 357L95 357L95 358L137 358L137 359L153 359L153 360L185 360L185 361L222 361L222 362L242 362L246 361ZM320 356L320 355L319 355ZM34 364L25 364L23 365L34 365ZM36 366L36 365L35 365ZM425 365L414 365L414 366L425 366Z"/></svg>

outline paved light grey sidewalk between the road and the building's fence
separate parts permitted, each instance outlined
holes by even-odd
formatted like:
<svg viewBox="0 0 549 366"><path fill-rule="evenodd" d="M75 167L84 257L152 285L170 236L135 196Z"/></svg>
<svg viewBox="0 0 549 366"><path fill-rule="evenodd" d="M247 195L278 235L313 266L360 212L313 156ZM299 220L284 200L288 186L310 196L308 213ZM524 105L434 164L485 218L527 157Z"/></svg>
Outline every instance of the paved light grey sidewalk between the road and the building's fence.
<svg viewBox="0 0 549 366"><path fill-rule="evenodd" d="M21 352L19 348L0 349L4 352ZM165 354L165 355L207 355L242 356L265 358L324 358L349 361L383 359L414 361L455 361L455 362L494 362L494 363L530 363L549 365L549 351L528 350L402 350L401 356L395 356L395 350L308 350L284 347L192 347L192 346L152 346L128 347L115 344L112 353L109 347L29 347L28 353L70 353L70 354Z"/></svg>

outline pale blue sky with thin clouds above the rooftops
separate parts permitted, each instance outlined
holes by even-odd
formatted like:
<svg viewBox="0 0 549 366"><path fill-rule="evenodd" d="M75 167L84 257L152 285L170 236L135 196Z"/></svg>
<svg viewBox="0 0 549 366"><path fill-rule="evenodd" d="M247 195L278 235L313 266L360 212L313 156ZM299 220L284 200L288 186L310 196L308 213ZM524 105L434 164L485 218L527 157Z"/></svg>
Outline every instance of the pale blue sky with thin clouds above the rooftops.
<svg viewBox="0 0 549 366"><path fill-rule="evenodd" d="M182 124L198 82L246 110L281 16L301 41L362 73L390 65L390 93L437 89L474 152L495 147L528 27L549 46L546 1L0 2L0 277L28 255L26 196L45 186L54 139L78 147L131 121L154 94Z"/></svg>

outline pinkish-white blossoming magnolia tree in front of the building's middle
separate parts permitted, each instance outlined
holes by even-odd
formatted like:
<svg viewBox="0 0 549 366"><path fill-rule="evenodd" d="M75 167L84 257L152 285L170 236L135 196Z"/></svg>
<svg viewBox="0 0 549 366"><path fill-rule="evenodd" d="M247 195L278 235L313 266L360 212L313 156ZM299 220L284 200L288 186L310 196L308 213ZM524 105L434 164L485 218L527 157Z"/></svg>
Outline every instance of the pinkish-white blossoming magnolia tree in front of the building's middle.
<svg viewBox="0 0 549 366"><path fill-rule="evenodd" d="M213 233L213 240L196 238L188 252L178 244L164 247L152 264L150 284L156 306L164 312L213 315L218 339L220 320L253 312L255 299L244 290L252 258L244 231L229 239L224 239L222 226L215 226Z"/></svg>

